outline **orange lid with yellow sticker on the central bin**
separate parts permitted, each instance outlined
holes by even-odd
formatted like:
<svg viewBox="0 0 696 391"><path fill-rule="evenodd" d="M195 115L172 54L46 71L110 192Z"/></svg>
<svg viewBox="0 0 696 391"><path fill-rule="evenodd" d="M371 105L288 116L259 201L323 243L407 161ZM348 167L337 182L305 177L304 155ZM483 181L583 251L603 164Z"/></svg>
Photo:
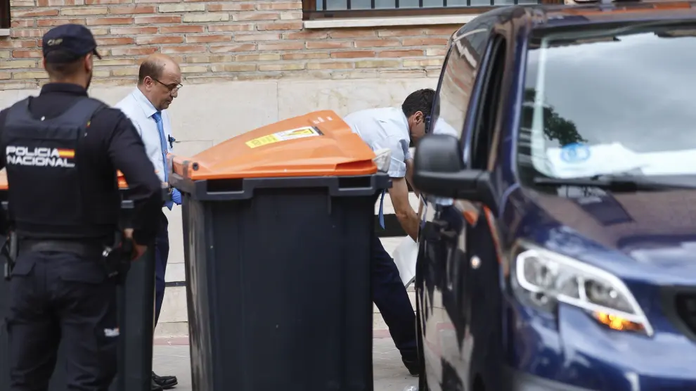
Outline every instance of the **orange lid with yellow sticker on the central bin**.
<svg viewBox="0 0 696 391"><path fill-rule="evenodd" d="M240 134L191 158L174 155L172 168L194 181L368 175L377 172L374 158L339 115L322 110Z"/></svg>

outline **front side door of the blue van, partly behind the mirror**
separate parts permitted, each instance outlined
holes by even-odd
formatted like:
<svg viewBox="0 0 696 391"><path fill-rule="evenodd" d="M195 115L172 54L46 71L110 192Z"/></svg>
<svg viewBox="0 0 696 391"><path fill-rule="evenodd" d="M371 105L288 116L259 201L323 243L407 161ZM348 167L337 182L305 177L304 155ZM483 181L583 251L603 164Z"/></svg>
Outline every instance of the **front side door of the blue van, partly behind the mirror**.
<svg viewBox="0 0 696 391"><path fill-rule="evenodd" d="M489 172L498 199L503 187L497 180L501 166L510 164L507 156L496 153L501 135L506 134L503 114L508 108L513 73L510 70L513 61L508 58L512 52L509 25L508 21L493 29L465 122L467 136L463 138L465 166ZM469 203L460 200L457 204ZM468 364L468 390L502 390L506 274L499 253L498 210L494 205L469 204L469 208L460 207L460 211L468 223L463 240L466 259L461 262L456 278L461 284L458 306L466 316L461 318L465 324L457 328L465 331L460 343L463 361Z"/></svg>

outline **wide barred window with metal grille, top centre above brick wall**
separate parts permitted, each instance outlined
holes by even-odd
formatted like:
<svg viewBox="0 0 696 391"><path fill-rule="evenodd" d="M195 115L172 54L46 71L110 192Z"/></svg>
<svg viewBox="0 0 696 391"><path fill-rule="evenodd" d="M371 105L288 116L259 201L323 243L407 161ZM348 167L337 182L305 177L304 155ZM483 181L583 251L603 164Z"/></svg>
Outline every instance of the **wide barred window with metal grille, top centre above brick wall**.
<svg viewBox="0 0 696 391"><path fill-rule="evenodd" d="M304 19L482 13L498 6L563 4L563 0L302 0Z"/></svg>

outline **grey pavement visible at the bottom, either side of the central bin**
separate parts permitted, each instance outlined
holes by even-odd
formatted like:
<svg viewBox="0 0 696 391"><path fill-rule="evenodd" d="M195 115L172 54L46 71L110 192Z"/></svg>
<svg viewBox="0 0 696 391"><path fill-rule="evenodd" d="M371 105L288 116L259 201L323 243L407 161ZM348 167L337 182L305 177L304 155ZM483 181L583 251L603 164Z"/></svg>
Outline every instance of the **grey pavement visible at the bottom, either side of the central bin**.
<svg viewBox="0 0 696 391"><path fill-rule="evenodd" d="M404 391L418 386L418 378L411 376L401 364L399 351L388 333L375 332L372 354L375 391ZM155 373L176 375L179 379L179 385L172 390L193 391L188 338L157 338L153 356Z"/></svg>

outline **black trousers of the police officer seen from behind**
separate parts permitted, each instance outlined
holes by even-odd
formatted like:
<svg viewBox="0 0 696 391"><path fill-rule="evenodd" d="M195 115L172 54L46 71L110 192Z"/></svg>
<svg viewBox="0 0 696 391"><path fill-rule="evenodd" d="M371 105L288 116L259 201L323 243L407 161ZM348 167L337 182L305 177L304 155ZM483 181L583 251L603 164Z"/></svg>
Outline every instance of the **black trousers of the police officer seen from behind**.
<svg viewBox="0 0 696 391"><path fill-rule="evenodd" d="M46 391L58 345L67 390L106 391L117 372L116 285L101 258L20 254L7 319L11 391Z"/></svg>

